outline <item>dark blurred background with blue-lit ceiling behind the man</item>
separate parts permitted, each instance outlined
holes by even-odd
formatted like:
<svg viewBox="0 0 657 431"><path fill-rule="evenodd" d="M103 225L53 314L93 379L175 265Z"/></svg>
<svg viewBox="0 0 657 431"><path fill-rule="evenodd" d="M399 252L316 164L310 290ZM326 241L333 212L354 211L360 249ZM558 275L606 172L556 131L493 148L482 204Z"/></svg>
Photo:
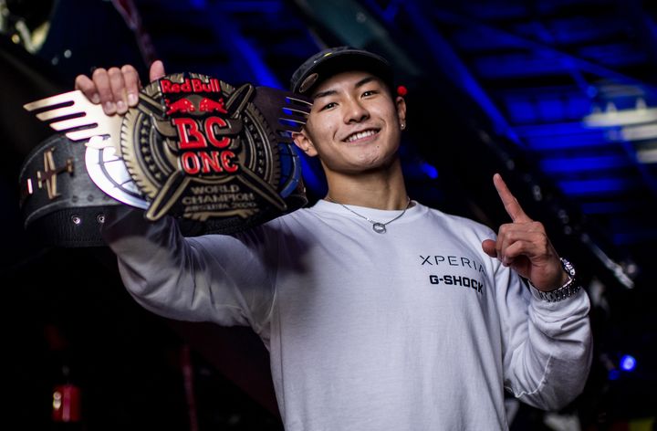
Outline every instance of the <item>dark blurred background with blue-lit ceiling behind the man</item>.
<svg viewBox="0 0 657 431"><path fill-rule="evenodd" d="M108 250L43 247L23 230L18 169L51 132L21 106L72 89L93 68L130 63L145 82L155 58L170 72L287 88L308 56L351 45L389 58L409 90L401 157L412 198L496 228L507 221L491 182L500 172L588 282L596 359L585 394L559 415L510 401L512 429L650 426L656 6L0 0L3 314L16 386L8 415L46 429L57 363L66 359L89 429L279 429L266 352L253 333L152 316L123 291ZM304 179L311 202L323 196L316 161L304 159ZM564 427L574 419L579 428Z"/></svg>

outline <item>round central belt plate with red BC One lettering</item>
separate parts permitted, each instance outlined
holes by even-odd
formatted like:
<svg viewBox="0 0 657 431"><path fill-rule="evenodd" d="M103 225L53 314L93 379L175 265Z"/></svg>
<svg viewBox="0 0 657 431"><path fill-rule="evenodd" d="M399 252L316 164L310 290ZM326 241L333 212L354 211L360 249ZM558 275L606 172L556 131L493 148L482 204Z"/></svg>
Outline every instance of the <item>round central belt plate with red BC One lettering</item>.
<svg viewBox="0 0 657 431"><path fill-rule="evenodd" d="M151 82L120 134L126 169L148 201L145 217L216 217L214 226L234 229L286 211L279 141L292 141L278 124L292 97L193 73ZM302 101L305 112L312 102Z"/></svg>

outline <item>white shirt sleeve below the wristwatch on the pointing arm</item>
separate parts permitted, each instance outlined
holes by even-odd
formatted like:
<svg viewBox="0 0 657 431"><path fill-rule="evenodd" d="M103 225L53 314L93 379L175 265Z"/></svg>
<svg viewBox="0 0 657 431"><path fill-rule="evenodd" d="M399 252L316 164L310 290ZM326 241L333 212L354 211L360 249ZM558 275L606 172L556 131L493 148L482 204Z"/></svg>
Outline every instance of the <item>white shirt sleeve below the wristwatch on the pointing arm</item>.
<svg viewBox="0 0 657 431"><path fill-rule="evenodd" d="M495 282L506 390L528 405L558 410L581 394L589 375L589 297L579 289L558 302L538 300L502 265Z"/></svg>

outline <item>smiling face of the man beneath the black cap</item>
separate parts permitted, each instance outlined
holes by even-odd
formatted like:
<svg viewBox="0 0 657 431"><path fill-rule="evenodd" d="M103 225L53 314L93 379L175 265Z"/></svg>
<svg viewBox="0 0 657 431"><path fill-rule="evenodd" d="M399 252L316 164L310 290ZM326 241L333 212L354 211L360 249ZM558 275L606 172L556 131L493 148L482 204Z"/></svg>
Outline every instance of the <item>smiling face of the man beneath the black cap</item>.
<svg viewBox="0 0 657 431"><path fill-rule="evenodd" d="M406 116L401 97L393 99L370 73L339 73L321 84L297 146L319 156L327 177L388 169L397 160L400 124Z"/></svg>

